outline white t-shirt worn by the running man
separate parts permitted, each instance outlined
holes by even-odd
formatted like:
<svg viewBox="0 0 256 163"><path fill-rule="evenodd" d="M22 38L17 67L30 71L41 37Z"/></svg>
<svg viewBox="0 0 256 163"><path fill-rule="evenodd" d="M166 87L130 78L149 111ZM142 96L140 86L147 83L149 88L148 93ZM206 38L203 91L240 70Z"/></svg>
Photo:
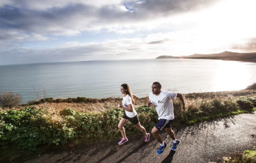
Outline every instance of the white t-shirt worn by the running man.
<svg viewBox="0 0 256 163"><path fill-rule="evenodd" d="M156 108L159 119L174 119L173 114L173 101L177 97L176 92L161 91L158 96L152 92L149 94L149 100L152 102Z"/></svg>

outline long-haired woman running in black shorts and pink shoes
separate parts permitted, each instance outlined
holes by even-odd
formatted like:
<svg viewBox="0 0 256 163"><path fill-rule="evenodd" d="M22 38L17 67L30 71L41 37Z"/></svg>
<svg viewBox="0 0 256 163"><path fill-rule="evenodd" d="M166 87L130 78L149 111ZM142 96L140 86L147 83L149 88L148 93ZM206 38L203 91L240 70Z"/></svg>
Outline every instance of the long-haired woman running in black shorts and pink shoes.
<svg viewBox="0 0 256 163"><path fill-rule="evenodd" d="M125 111L124 116L118 124L119 131L122 134L122 139L118 144L121 145L124 142L128 141L124 130L124 124L126 124L128 121L132 122L132 124L134 124L136 128L139 129L145 135L145 142L148 142L150 133L147 133L145 128L141 126L141 124L139 123L139 117L133 106L137 96L132 94L129 85L126 83L121 85L121 93L124 95L124 97L122 98L122 104L118 104L117 107L120 107Z"/></svg>

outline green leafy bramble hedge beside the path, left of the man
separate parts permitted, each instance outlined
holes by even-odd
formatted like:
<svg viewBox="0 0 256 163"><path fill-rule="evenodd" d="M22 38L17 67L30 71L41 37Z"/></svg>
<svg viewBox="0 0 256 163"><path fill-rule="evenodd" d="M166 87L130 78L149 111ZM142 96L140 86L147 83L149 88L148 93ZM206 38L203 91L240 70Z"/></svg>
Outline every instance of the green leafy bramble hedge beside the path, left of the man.
<svg viewBox="0 0 256 163"><path fill-rule="evenodd" d="M154 126L156 111L147 107L139 107L138 115L142 124L148 128ZM13 146L18 150L34 151L40 145L64 145L76 139L83 141L97 141L116 138L120 134L117 126L123 115L123 110L115 107L104 112L79 113L72 109L60 112L62 122L53 124L43 116L45 110L26 107L20 110L0 112L0 148ZM149 121L148 121L149 120ZM139 130L128 122L127 134L138 133Z"/></svg>

